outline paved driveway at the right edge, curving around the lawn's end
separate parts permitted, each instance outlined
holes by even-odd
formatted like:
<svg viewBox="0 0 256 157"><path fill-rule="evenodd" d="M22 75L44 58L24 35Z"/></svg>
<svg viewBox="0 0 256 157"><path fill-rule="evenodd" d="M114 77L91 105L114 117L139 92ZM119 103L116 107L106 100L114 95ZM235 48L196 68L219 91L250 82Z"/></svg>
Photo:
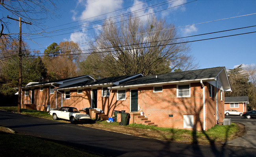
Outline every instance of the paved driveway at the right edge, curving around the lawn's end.
<svg viewBox="0 0 256 157"><path fill-rule="evenodd" d="M225 118L231 118L231 122L241 123L245 126L245 134L242 137L238 137L234 140L225 142L230 146L243 146L256 148L256 119L247 119L243 116L225 116Z"/></svg>

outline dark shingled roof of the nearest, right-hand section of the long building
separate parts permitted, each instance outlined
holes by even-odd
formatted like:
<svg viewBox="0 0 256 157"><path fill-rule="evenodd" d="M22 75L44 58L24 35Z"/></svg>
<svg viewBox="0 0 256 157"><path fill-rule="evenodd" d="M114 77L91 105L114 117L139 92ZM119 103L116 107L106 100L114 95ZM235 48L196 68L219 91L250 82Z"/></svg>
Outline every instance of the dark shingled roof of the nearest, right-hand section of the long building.
<svg viewBox="0 0 256 157"><path fill-rule="evenodd" d="M184 72L171 72L167 74L157 75L157 78L156 78L156 75L145 76L137 79L132 79L130 81L122 83L119 86L215 78L223 69L224 69L224 66L216 67L216 68L206 68L206 69L200 69L200 70L190 70L190 71L184 71Z"/></svg>

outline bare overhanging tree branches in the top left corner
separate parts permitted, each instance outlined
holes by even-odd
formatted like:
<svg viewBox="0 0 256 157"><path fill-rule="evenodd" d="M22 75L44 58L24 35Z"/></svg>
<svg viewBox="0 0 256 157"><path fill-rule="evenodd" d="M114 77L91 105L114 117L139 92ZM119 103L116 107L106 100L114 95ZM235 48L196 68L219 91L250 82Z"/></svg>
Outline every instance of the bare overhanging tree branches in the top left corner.
<svg viewBox="0 0 256 157"><path fill-rule="evenodd" d="M45 22L45 19L49 16L56 16L54 12L56 9L56 4L50 0L0 0L0 12L5 16L0 18L0 37L5 35L9 38L13 38L14 35L18 34L10 30L9 25L13 20L9 20L6 15L18 19L20 17L22 21L31 22L33 24L32 26L28 26L31 31L30 33L22 33L22 35L29 39L29 35L42 35L41 33L45 30L43 22ZM39 29L40 31L36 31L35 29Z"/></svg>

